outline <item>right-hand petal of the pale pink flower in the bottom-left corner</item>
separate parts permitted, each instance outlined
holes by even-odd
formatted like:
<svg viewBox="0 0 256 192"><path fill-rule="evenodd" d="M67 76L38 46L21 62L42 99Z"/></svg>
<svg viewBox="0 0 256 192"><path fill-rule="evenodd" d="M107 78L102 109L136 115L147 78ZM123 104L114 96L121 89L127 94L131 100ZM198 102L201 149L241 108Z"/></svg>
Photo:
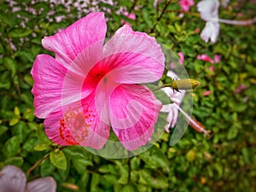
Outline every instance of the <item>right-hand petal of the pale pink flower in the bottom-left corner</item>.
<svg viewBox="0 0 256 192"><path fill-rule="evenodd" d="M43 177L27 183L26 192L55 192L56 182L53 177Z"/></svg>

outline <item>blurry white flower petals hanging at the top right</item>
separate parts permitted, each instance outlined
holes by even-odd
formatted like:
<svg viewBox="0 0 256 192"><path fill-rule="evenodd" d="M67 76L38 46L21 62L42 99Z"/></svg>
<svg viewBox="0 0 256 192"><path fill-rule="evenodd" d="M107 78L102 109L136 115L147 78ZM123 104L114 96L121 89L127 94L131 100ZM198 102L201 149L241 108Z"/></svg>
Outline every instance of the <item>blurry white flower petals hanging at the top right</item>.
<svg viewBox="0 0 256 192"><path fill-rule="evenodd" d="M219 33L218 0L202 0L197 3L197 10L201 13L201 19L207 21L201 32L201 38L207 43L211 39L212 44L217 42Z"/></svg>

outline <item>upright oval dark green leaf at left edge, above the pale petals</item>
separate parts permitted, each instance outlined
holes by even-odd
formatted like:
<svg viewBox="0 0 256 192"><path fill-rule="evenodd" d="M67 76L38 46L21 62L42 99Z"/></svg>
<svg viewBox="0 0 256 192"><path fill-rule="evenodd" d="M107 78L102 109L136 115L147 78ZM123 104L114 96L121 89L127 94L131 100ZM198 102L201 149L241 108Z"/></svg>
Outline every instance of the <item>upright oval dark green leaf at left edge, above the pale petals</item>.
<svg viewBox="0 0 256 192"><path fill-rule="evenodd" d="M20 152L20 138L18 136L10 137L9 140L4 143L3 154L6 157L14 157Z"/></svg>

